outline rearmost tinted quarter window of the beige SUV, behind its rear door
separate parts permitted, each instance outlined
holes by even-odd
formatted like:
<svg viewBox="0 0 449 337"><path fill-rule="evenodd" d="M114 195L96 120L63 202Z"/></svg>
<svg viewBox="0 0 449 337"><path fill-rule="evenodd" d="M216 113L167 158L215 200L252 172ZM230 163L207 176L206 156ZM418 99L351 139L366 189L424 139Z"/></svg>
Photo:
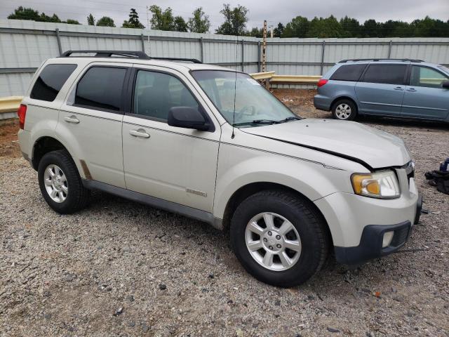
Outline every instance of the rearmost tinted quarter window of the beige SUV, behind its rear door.
<svg viewBox="0 0 449 337"><path fill-rule="evenodd" d="M36 79L30 98L53 102L76 65L46 65Z"/></svg>

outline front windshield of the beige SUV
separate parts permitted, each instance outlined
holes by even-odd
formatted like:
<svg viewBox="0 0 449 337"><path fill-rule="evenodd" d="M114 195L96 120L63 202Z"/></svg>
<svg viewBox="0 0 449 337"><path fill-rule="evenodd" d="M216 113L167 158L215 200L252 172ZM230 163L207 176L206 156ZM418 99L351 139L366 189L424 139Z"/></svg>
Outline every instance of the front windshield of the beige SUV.
<svg viewBox="0 0 449 337"><path fill-rule="evenodd" d="M192 75L231 125L251 127L300 119L248 74L196 70Z"/></svg>

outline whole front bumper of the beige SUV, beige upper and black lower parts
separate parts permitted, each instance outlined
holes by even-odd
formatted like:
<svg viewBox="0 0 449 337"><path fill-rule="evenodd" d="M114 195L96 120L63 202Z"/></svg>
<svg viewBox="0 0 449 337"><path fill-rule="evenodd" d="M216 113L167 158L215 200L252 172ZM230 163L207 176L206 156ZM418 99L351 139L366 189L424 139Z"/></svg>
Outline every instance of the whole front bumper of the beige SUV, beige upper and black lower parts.
<svg viewBox="0 0 449 337"><path fill-rule="evenodd" d="M413 224L420 220L422 197L406 169L396 169L396 173L401 187L397 199L340 192L314 201L328 223L338 262L362 263L392 253L407 241ZM402 239L394 237L382 248L384 232L390 230L401 232Z"/></svg>

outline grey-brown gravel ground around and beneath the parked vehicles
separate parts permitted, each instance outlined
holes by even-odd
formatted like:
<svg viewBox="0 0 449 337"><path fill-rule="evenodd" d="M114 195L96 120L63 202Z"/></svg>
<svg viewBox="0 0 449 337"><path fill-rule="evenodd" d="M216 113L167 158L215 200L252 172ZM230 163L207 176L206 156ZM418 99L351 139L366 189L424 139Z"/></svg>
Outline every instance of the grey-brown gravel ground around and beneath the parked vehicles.
<svg viewBox="0 0 449 337"><path fill-rule="evenodd" d="M275 91L328 118L313 91ZM449 196L424 180L448 157L449 128L361 120L400 136L429 209L395 253L348 269L330 258L307 284L278 289L239 265L227 233L97 193L59 216L0 125L0 336L449 336Z"/></svg>

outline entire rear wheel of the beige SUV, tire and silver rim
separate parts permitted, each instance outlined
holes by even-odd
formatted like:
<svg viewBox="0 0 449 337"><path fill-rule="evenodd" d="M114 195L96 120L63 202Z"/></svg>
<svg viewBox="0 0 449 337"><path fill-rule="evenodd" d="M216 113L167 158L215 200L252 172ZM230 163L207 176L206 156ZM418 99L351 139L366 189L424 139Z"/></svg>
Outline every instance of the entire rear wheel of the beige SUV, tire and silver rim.
<svg viewBox="0 0 449 337"><path fill-rule="evenodd" d="M83 209L90 192L81 183L76 165L65 150L45 154L37 171L43 199L58 213L74 213Z"/></svg>

